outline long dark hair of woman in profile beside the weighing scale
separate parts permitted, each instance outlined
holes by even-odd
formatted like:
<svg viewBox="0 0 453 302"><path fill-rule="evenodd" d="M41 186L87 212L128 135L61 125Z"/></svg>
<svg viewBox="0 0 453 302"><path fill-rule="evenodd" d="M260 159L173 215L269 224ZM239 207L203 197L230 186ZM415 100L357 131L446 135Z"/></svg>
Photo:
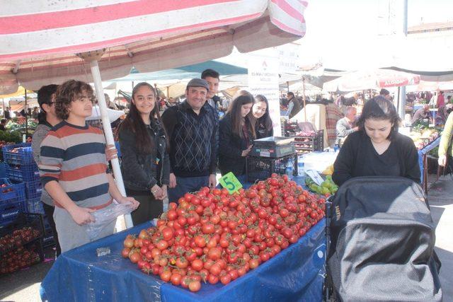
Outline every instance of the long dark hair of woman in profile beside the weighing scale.
<svg viewBox="0 0 453 302"><path fill-rule="evenodd" d="M253 105L253 96L248 93L245 95L239 95L237 98L233 100L233 103L229 106L228 109L228 114L230 115L231 118L231 130L234 134L236 134L239 137L243 137L242 133L242 116L241 116L241 108L242 105L246 104L252 104ZM248 112L248 115L246 116L246 125L248 127L248 130L251 132L252 137L255 138L255 123L254 123L254 117L252 110Z"/></svg>

